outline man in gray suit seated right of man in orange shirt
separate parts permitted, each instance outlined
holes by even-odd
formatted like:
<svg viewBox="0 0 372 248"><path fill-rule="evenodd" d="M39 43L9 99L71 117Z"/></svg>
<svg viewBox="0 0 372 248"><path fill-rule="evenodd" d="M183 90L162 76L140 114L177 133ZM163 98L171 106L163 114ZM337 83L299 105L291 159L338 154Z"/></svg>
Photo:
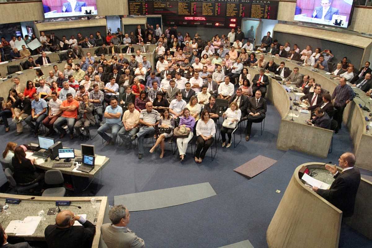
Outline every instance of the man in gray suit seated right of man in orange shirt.
<svg viewBox="0 0 372 248"><path fill-rule="evenodd" d="M94 125L96 120L92 114L94 108L94 104L89 102L89 94L83 95L83 101L79 104L79 117L74 125L74 129L76 132L76 136L80 136L80 140L84 140L84 136L80 131L81 127L84 127L88 137L88 128L89 125Z"/></svg>

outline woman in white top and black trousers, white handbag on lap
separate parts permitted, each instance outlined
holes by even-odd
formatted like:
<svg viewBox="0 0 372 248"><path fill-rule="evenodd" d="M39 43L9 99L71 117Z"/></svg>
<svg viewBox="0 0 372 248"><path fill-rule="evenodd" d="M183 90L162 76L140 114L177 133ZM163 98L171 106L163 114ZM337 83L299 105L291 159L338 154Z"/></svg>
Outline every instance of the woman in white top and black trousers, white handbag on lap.
<svg viewBox="0 0 372 248"><path fill-rule="evenodd" d="M241 117L241 110L238 108L238 104L236 102L231 102L230 108L222 114L222 117L226 118L221 127L222 147L226 145L227 134L229 140L226 147L229 148L231 146L232 131L237 127Z"/></svg>

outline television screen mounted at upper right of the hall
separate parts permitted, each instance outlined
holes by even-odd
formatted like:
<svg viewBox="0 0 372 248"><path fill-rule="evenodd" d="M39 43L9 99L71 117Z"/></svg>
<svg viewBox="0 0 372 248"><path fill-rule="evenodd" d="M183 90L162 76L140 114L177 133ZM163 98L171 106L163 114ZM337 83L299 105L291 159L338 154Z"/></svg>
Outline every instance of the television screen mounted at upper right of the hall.
<svg viewBox="0 0 372 248"><path fill-rule="evenodd" d="M352 11L353 0L297 0L294 20L346 28Z"/></svg>

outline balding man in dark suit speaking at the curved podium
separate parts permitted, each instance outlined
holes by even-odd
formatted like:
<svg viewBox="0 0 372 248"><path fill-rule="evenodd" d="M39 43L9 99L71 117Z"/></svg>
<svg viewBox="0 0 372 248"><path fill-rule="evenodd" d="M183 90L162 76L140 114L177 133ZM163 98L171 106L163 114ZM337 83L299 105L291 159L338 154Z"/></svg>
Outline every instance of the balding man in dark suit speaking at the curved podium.
<svg viewBox="0 0 372 248"><path fill-rule="evenodd" d="M342 217L350 217L354 213L355 197L360 183L360 172L354 167L355 161L353 153L342 154L339 158L341 173L337 171L336 165L325 165L325 169L333 173L336 179L330 189L312 187L318 195L339 208L343 212Z"/></svg>

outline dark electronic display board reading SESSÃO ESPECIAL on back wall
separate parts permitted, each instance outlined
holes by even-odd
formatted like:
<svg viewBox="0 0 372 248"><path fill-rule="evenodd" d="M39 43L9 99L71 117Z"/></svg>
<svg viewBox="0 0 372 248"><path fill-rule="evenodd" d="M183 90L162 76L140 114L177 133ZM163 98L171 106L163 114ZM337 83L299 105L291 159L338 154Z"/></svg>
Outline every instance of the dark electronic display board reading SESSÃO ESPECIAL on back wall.
<svg viewBox="0 0 372 248"><path fill-rule="evenodd" d="M161 14L168 25L235 27L243 17L275 20L279 1L128 0L128 4L129 15Z"/></svg>

